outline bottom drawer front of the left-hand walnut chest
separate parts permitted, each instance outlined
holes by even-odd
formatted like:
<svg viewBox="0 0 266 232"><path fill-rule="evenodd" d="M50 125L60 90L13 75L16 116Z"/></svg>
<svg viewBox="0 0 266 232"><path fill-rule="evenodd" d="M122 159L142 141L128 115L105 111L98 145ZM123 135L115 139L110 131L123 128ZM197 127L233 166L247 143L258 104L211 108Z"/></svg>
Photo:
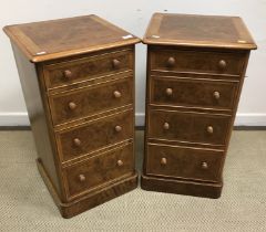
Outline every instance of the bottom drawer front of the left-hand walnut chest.
<svg viewBox="0 0 266 232"><path fill-rule="evenodd" d="M92 157L63 170L69 197L89 191L108 181L133 172L133 145Z"/></svg>

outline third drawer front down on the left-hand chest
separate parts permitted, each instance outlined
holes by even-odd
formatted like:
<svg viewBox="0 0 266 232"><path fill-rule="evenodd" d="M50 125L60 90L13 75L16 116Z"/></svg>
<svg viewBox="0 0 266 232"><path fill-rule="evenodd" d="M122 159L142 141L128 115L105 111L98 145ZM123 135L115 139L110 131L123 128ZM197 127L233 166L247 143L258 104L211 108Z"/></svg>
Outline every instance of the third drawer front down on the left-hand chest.
<svg viewBox="0 0 266 232"><path fill-rule="evenodd" d="M62 161L133 138L133 112L100 118L92 123L57 133Z"/></svg>

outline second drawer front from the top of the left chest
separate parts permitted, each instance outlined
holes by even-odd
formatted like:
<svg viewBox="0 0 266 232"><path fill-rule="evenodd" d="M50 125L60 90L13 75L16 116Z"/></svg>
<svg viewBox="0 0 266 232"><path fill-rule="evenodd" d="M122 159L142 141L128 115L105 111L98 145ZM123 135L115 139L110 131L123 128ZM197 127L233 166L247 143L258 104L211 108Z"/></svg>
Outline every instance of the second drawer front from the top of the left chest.
<svg viewBox="0 0 266 232"><path fill-rule="evenodd" d="M54 125L69 123L133 103L133 78L124 77L108 83L51 95L50 107Z"/></svg>

